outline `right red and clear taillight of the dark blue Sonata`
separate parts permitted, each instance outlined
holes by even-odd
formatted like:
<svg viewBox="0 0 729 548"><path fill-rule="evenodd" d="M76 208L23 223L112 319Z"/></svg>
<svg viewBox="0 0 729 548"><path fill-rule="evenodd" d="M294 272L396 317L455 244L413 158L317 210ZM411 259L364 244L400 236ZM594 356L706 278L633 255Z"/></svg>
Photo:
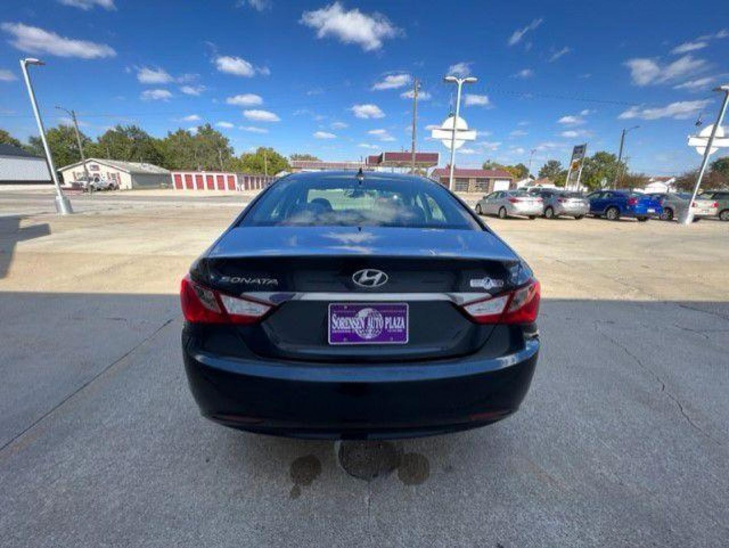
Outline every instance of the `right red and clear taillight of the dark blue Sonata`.
<svg viewBox="0 0 729 548"><path fill-rule="evenodd" d="M536 280L499 297L464 305L477 324L533 324L539 315L541 286Z"/></svg>

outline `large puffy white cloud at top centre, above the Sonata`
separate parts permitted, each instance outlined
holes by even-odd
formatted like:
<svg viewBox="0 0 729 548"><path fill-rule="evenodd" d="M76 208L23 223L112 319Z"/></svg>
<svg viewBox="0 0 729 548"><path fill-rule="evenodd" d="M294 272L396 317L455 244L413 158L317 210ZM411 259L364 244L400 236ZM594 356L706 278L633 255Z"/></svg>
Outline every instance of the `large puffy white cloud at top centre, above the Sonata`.
<svg viewBox="0 0 729 548"><path fill-rule="evenodd" d="M402 34L381 13L367 15L356 8L345 11L338 1L321 9L303 12L299 23L315 29L317 38L335 36L345 44L358 44L364 51L379 50L383 40Z"/></svg>

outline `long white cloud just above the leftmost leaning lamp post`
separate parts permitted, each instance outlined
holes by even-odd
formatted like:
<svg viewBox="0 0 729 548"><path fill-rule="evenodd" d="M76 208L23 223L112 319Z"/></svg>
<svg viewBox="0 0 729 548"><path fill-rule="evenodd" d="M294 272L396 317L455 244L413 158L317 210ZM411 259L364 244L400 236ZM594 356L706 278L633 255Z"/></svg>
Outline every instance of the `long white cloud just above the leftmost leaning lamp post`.
<svg viewBox="0 0 729 548"><path fill-rule="evenodd" d="M23 25L23 23L3 23L1 28L7 34L12 35L10 44L13 47L28 53L47 53L58 57L81 59L98 59L117 55L117 52L106 44L64 38L39 27Z"/></svg>

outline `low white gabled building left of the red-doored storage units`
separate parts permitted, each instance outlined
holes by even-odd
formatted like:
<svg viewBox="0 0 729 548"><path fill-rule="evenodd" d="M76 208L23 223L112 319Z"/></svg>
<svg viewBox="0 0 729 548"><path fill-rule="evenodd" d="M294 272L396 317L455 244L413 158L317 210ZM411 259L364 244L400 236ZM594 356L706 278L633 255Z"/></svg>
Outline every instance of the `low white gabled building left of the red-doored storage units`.
<svg viewBox="0 0 729 548"><path fill-rule="evenodd" d="M170 183L170 172L154 164L89 158L86 168L92 181L112 181L122 190L160 188ZM63 176L64 184L82 181L86 176L82 162L66 165L58 171Z"/></svg>

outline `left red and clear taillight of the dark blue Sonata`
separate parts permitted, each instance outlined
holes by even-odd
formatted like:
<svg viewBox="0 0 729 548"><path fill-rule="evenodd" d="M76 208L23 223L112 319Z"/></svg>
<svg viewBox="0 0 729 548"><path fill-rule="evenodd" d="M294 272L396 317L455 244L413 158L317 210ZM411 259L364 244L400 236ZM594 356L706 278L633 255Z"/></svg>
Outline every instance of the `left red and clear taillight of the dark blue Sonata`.
<svg viewBox="0 0 729 548"><path fill-rule="evenodd" d="M180 303L184 318L193 324L255 324L271 309L263 302L201 286L189 274L180 284Z"/></svg>

